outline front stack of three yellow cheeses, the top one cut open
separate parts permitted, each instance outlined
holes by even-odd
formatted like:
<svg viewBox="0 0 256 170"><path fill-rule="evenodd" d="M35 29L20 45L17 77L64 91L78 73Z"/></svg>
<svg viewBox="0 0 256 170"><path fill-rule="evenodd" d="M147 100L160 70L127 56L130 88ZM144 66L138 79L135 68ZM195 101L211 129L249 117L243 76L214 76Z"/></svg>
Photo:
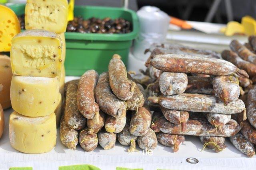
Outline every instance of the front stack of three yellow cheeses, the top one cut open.
<svg viewBox="0 0 256 170"><path fill-rule="evenodd" d="M49 152L56 144L60 119L63 68L62 40L54 33L33 29L12 39L10 143L24 153Z"/></svg>

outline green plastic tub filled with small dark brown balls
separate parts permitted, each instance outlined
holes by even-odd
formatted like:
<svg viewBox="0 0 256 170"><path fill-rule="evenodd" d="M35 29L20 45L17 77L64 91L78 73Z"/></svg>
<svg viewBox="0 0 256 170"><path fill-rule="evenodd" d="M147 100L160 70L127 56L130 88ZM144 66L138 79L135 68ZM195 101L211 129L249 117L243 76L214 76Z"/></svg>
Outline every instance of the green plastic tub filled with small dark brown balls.
<svg viewBox="0 0 256 170"><path fill-rule="evenodd" d="M24 14L24 4L9 6L19 16ZM66 75L81 76L86 70L94 69L100 73L108 70L109 60L113 54L119 54L124 64L128 61L128 54L132 40L139 31L138 17L132 10L124 8L75 6L74 16L84 19L91 17L124 18L132 22L132 32L128 34L82 34L66 32Z"/></svg>

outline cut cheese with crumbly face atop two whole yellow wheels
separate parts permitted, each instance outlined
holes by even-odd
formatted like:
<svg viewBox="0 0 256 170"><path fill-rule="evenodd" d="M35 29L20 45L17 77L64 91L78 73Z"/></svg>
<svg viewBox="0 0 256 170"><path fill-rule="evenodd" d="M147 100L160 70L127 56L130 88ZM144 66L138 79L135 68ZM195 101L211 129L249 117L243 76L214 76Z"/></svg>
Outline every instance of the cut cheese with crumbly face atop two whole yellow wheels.
<svg viewBox="0 0 256 170"><path fill-rule="evenodd" d="M12 39L13 74L55 77L60 75L62 63L62 40L54 32L27 30Z"/></svg>

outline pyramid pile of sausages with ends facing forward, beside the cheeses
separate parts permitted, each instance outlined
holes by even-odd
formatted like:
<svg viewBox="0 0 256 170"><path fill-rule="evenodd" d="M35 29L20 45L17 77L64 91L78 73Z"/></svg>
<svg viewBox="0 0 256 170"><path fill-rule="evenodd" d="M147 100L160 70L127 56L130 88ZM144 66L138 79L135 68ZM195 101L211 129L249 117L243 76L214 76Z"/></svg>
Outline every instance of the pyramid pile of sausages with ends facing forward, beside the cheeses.
<svg viewBox="0 0 256 170"><path fill-rule="evenodd" d="M108 150L117 138L130 146L128 152L136 150L136 143L141 149L156 148L146 92L127 73L119 55L110 60L108 72L98 76L88 70L80 80L67 82L65 89L60 139L66 147L75 150L79 142L87 152L98 144Z"/></svg>

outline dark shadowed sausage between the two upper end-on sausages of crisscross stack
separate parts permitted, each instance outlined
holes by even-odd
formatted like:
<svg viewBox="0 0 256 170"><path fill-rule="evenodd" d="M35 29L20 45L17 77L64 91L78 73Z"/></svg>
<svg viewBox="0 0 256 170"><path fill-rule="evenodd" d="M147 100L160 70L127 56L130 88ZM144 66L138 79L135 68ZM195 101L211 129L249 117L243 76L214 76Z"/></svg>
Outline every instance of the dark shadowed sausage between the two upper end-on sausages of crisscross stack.
<svg viewBox="0 0 256 170"><path fill-rule="evenodd" d="M188 86L185 93L214 94L209 77L188 76Z"/></svg>

